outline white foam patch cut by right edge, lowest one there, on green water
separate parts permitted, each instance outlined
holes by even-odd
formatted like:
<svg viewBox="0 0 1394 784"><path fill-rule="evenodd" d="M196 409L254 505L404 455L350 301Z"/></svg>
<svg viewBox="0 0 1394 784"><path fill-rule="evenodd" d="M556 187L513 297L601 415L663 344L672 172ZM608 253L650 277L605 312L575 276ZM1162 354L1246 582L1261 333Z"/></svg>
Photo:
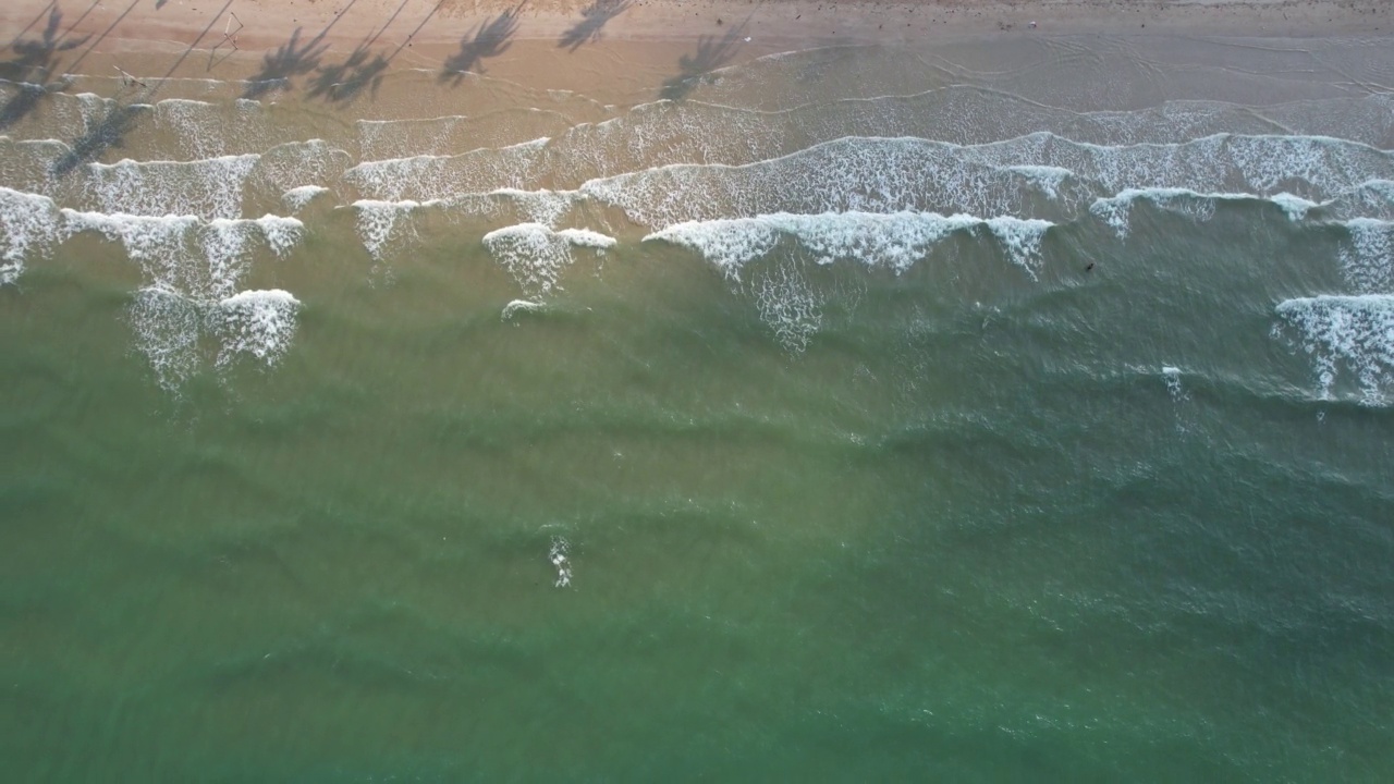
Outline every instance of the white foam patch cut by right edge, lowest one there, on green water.
<svg viewBox="0 0 1394 784"><path fill-rule="evenodd" d="M1338 377L1349 371L1365 405L1388 403L1386 389L1394 385L1394 296L1302 297L1280 303L1277 314L1312 356L1324 399L1333 398ZM1276 325L1274 336L1281 333L1282 325Z"/></svg>

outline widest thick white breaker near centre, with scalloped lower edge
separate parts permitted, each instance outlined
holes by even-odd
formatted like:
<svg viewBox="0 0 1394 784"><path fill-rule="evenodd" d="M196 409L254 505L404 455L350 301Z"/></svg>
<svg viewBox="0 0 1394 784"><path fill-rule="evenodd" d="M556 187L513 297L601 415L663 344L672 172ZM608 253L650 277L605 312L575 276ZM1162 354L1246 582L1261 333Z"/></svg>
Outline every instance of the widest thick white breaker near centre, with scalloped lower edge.
<svg viewBox="0 0 1394 784"><path fill-rule="evenodd" d="M981 219L937 212L781 212L754 218L690 220L654 232L644 240L664 240L694 250L730 278L739 278L744 264L774 250L781 236L795 239L818 264L855 259L901 273L953 232L976 230L980 226L987 227L1002 243L1008 257L1034 278L1041 239L1052 223L1011 216Z"/></svg>

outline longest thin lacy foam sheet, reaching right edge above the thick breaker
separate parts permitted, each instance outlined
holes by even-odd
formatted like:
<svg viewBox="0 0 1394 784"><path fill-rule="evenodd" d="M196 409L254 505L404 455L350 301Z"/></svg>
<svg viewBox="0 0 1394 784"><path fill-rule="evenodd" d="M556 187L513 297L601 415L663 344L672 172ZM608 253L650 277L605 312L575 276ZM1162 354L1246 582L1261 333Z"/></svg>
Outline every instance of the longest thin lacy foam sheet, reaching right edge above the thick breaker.
<svg viewBox="0 0 1394 784"><path fill-rule="evenodd" d="M1203 219L1209 208L1197 202L1280 193L1330 198L1381 177L1394 177L1388 152L1323 137L1220 134L1100 146L1036 133L976 146L848 137L739 166L680 163L594 179L580 191L650 227L775 212L962 211L1054 219L1112 194L1147 195ZM1105 218L1126 232L1126 199L1112 206Z"/></svg>

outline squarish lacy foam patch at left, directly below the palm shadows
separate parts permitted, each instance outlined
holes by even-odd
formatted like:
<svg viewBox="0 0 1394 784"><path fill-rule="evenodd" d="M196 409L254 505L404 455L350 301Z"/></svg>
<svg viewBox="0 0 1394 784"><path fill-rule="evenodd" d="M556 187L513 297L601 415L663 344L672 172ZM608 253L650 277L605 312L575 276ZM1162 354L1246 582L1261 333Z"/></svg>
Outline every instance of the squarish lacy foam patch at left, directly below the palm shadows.
<svg viewBox="0 0 1394 784"><path fill-rule="evenodd" d="M259 158L89 163L86 186L100 212L237 218L243 186Z"/></svg>

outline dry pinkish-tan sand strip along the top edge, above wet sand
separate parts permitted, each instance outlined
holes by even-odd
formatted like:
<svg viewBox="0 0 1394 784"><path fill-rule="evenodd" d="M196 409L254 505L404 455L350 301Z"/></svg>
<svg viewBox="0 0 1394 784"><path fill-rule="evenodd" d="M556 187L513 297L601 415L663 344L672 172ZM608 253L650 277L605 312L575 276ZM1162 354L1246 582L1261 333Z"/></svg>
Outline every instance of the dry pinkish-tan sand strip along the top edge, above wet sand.
<svg viewBox="0 0 1394 784"><path fill-rule="evenodd" d="M275 71L298 77L336 56L358 52L386 68L459 68L538 85L570 88L577 74L594 89L619 60L671 67L680 42L701 40L701 67L810 46L942 42L984 36L1199 35L1306 38L1386 36L1387 3L1359 0L1047 3L885 3L880 0L107 0L93 4L17 0L0 10L0 39L57 46L39 63L15 59L15 71L42 66L61 73L120 67L137 78L238 78ZM190 57L191 52L204 57ZM208 54L212 54L210 57ZM567 54L560 57L559 54ZM153 56L153 57L152 57ZM453 59L453 60L452 60ZM269 67L268 67L269 66ZM613 74L623 75L623 74ZM35 78L35 74L28 74Z"/></svg>

